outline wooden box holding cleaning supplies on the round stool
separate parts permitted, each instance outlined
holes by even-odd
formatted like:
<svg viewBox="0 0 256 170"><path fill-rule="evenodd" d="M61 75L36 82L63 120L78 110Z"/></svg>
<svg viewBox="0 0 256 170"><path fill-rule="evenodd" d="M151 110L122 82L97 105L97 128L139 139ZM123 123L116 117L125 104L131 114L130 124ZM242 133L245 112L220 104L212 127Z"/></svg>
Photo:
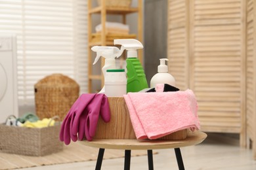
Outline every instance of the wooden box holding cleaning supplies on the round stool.
<svg viewBox="0 0 256 170"><path fill-rule="evenodd" d="M123 97L108 97L108 102L111 111L110 122L105 123L101 118L98 120L94 139L136 139L125 99ZM184 129L160 139L186 139L186 135L187 130Z"/></svg>

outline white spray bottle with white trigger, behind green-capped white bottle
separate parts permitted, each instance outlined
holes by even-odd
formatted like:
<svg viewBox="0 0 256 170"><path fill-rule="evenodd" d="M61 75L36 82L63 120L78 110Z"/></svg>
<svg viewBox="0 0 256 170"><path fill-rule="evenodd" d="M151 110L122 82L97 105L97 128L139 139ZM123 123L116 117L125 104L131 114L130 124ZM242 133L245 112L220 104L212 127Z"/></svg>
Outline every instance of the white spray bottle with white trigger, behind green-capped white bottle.
<svg viewBox="0 0 256 170"><path fill-rule="evenodd" d="M104 77L106 75L107 69L116 69L115 58L117 57L117 54L119 54L119 48L117 48L116 46L93 46L91 50L96 52L96 58L93 62L93 65L95 65L100 57L105 58L105 64L102 67L102 73ZM98 93L105 93L105 86Z"/></svg>

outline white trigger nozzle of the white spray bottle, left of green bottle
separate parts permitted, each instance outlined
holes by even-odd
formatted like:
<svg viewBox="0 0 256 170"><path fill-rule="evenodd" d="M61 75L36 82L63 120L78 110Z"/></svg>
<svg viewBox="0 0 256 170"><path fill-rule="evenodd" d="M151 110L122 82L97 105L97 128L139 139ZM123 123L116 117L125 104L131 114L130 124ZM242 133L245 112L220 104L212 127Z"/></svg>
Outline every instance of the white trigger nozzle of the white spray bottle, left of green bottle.
<svg viewBox="0 0 256 170"><path fill-rule="evenodd" d="M93 62L93 65L100 59L100 56L106 59L115 59L118 58L117 54L119 54L119 48L116 46L93 46L91 48L94 52L96 52L96 58Z"/></svg>

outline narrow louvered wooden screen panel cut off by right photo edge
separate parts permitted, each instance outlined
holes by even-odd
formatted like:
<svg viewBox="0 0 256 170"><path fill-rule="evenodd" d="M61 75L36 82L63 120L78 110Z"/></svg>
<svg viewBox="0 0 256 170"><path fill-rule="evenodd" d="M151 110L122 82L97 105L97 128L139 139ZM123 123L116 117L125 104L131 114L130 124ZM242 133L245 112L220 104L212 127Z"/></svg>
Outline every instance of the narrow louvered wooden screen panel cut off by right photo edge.
<svg viewBox="0 0 256 170"><path fill-rule="evenodd" d="M256 159L256 1L246 1L246 114L247 137L253 143Z"/></svg>

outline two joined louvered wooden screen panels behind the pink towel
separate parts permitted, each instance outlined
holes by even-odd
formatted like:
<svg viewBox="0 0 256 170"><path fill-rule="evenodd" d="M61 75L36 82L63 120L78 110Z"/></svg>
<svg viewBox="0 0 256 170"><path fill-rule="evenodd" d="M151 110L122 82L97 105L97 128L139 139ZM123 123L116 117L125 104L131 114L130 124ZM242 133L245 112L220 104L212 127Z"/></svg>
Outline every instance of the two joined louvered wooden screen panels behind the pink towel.
<svg viewBox="0 0 256 170"><path fill-rule="evenodd" d="M169 71L198 99L202 131L245 146L245 1L169 0Z"/></svg>

